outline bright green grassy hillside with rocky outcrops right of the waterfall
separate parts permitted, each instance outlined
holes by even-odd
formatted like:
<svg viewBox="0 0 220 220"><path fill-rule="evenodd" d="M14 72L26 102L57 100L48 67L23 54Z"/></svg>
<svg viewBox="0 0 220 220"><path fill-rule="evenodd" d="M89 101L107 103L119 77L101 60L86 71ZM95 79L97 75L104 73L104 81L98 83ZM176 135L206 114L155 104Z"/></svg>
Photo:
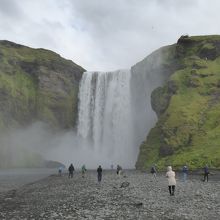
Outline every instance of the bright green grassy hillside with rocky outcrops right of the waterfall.
<svg viewBox="0 0 220 220"><path fill-rule="evenodd" d="M136 167L220 168L220 36L182 36L170 48L177 65L151 95L158 122Z"/></svg>

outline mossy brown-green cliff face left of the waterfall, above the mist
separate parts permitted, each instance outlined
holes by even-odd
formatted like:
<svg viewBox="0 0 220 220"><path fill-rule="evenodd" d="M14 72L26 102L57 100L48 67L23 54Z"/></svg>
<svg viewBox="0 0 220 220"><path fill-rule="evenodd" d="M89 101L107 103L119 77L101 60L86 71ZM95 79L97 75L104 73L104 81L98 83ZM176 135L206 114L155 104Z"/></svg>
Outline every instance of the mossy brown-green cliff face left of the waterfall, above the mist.
<svg viewBox="0 0 220 220"><path fill-rule="evenodd" d="M0 41L0 129L39 120L73 127L84 71L52 51Z"/></svg>

